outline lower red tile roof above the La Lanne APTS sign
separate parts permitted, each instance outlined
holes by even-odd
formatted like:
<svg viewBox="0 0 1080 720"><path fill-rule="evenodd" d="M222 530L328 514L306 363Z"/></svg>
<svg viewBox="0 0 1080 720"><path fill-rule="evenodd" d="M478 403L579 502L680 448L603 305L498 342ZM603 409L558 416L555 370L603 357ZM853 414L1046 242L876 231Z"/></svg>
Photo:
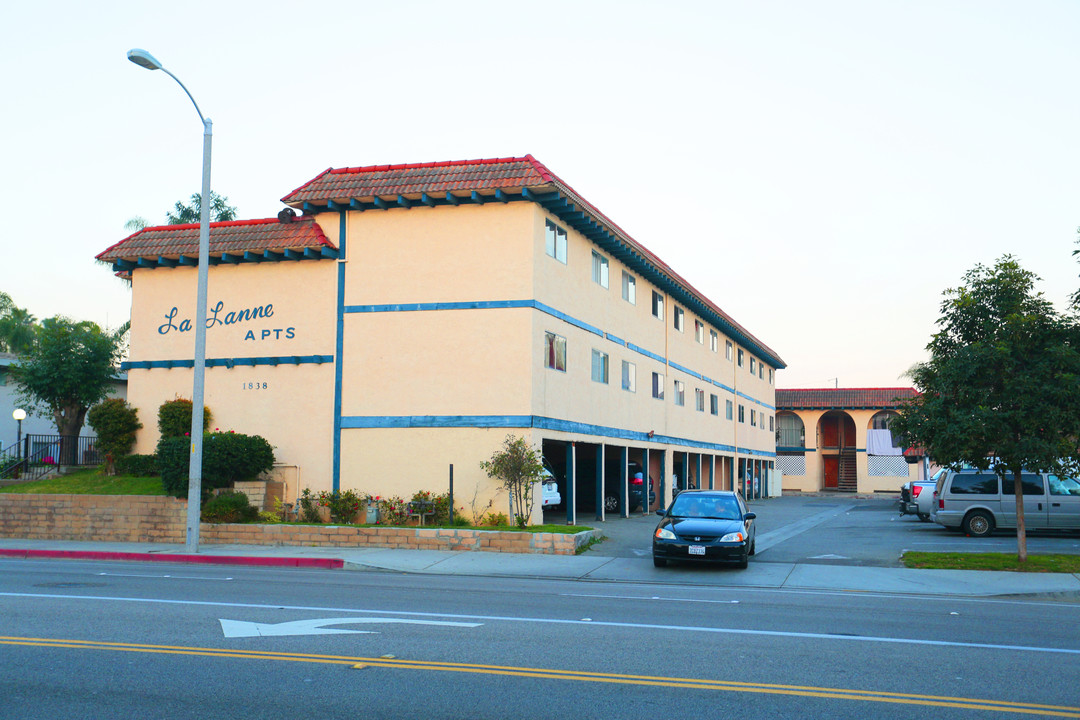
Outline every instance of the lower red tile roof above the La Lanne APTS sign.
<svg viewBox="0 0 1080 720"><path fill-rule="evenodd" d="M298 217L292 222L280 222L278 218L262 220L232 220L210 223L211 255L244 250L303 249L306 247L335 247L323 234L314 218ZM180 255L199 257L199 223L166 225L144 228L97 256L98 260L137 260Z"/></svg>

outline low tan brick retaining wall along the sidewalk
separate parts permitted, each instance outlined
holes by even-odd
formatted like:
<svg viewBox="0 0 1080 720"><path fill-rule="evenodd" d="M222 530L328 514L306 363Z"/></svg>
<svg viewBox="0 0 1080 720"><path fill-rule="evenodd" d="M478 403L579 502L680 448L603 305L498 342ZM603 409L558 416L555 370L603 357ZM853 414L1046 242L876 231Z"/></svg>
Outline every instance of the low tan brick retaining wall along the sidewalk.
<svg viewBox="0 0 1080 720"><path fill-rule="evenodd" d="M0 538L87 542L183 543L187 500L161 495L45 495L0 493ZM501 532L474 528L359 528L333 525L200 526L207 544L388 547L573 555L596 530Z"/></svg>

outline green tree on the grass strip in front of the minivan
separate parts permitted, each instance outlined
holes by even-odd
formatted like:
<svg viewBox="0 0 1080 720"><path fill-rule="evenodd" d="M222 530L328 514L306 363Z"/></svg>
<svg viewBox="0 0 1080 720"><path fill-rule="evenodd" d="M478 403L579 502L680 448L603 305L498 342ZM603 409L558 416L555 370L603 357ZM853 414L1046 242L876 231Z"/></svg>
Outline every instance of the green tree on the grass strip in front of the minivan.
<svg viewBox="0 0 1080 720"><path fill-rule="evenodd" d="M891 425L949 466L993 470L1016 493L1016 546L1027 559L1021 471L1080 466L1080 326L1036 291L1009 255L945 290L930 359L909 372L920 395Z"/></svg>

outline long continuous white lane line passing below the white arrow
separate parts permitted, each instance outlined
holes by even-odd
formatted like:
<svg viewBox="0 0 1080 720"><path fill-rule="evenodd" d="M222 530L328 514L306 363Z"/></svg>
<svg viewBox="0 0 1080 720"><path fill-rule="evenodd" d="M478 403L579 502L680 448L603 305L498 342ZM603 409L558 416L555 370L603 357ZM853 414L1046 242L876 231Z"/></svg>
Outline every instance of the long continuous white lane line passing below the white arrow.
<svg viewBox="0 0 1080 720"><path fill-rule="evenodd" d="M756 630L740 627L705 627L693 625L660 625L653 623L582 622L557 617L510 617L505 615L465 615L458 613L406 612L403 610L364 610L357 608L320 608L308 606L257 604L254 602L210 602L205 600L168 600L164 598L124 598L98 595L54 595L48 593L0 593L0 597L41 598L53 600L87 600L95 602L135 602L147 604L178 604L204 608L254 608L258 610L295 610L303 612L372 613L373 615L409 615L413 617L454 617L485 623L536 623L540 625L578 625L592 627L625 627L665 633L703 633L717 635L746 635L772 638L795 638L802 640L834 640L839 642L880 642L887 644L929 646L935 648L970 648L978 650L1004 650L1008 652L1040 652L1080 656L1080 649L1039 648L1034 646L999 644L994 642L951 642L948 640L922 640L919 638L888 638L872 635L832 635L828 633L795 633L787 630Z"/></svg>

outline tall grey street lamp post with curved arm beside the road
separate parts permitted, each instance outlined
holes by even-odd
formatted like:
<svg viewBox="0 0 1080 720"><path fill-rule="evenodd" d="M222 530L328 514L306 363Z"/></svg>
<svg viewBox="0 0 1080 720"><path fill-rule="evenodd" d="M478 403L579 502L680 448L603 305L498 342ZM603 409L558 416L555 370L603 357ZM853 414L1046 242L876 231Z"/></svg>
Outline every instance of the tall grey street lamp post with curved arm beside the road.
<svg viewBox="0 0 1080 720"><path fill-rule="evenodd" d="M191 463L188 470L188 533L186 546L189 553L199 552L199 515L202 504L202 450L203 450L203 395L206 377L206 280L210 255L210 152L213 123L204 118L195 98L184 86L179 78L166 70L153 55L145 50L127 51L127 59L148 70L162 70L187 93L195 106L199 120L203 124L203 181L202 200L199 203L199 285L195 299L195 357L194 381L191 391Z"/></svg>

